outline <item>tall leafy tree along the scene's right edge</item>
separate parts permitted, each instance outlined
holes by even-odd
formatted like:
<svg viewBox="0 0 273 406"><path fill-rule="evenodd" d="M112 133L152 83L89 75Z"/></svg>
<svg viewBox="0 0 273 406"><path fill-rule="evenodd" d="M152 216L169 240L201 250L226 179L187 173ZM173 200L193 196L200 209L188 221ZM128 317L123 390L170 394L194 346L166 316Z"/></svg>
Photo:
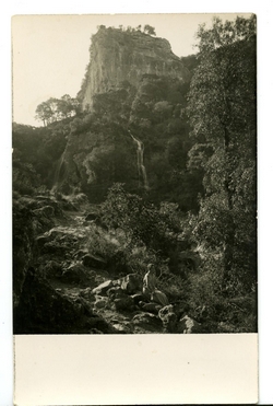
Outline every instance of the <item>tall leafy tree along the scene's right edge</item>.
<svg viewBox="0 0 273 406"><path fill-rule="evenodd" d="M254 15L225 23L214 19L210 30L201 25L200 65L189 93L191 136L197 140L190 164L199 161L203 167L205 189L194 233L206 250L223 253L225 288L235 279L249 286L256 277L256 263L247 259L249 250L256 253L254 33Z"/></svg>

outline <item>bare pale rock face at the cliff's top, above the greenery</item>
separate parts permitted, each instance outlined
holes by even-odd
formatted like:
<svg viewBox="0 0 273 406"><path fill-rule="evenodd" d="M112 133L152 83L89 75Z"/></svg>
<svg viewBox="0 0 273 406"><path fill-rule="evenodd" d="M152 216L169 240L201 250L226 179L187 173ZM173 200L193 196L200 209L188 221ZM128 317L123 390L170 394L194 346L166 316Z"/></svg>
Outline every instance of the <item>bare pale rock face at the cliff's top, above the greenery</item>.
<svg viewBox="0 0 273 406"><path fill-rule="evenodd" d="M190 73L171 51L167 39L140 31L122 32L100 27L92 37L90 63L81 90L82 105L93 105L93 96L128 81L138 86L143 74L166 76L189 81Z"/></svg>

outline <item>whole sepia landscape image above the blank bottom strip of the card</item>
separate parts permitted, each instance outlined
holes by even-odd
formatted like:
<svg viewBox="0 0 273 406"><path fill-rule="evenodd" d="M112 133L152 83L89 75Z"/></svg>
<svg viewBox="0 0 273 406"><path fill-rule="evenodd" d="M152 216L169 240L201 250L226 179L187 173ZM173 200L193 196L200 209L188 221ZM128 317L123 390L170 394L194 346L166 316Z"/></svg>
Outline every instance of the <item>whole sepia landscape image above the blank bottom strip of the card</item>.
<svg viewBox="0 0 273 406"><path fill-rule="evenodd" d="M13 16L13 334L257 333L256 24Z"/></svg>

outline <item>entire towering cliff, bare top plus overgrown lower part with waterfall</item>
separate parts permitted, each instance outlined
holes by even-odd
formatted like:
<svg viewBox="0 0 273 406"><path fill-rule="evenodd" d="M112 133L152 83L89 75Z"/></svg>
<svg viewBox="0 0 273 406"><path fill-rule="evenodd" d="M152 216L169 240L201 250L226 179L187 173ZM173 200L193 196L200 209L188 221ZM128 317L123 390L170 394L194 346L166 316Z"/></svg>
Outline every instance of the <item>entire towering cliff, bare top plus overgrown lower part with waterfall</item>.
<svg viewBox="0 0 273 406"><path fill-rule="evenodd" d="M154 199L168 195L170 182L180 188L190 148L182 114L189 70L166 39L141 32L99 28L90 50L83 113L70 124L52 186L91 201L117 182Z"/></svg>

